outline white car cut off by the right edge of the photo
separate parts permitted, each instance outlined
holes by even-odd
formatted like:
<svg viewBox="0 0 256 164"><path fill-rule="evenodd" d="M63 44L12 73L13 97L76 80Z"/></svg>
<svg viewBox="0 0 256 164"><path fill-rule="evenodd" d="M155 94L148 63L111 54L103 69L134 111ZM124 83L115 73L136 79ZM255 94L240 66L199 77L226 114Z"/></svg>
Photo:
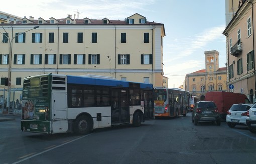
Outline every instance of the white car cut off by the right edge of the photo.
<svg viewBox="0 0 256 164"><path fill-rule="evenodd" d="M256 133L256 103L247 112L246 124L252 133Z"/></svg>

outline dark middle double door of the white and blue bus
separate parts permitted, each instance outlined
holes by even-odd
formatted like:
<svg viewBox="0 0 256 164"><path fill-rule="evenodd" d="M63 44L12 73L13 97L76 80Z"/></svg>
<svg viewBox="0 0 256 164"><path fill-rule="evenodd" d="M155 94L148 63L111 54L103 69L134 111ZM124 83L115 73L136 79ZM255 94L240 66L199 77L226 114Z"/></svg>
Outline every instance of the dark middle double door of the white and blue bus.
<svg viewBox="0 0 256 164"><path fill-rule="evenodd" d="M129 123L128 90L112 88L111 98L111 122Z"/></svg>

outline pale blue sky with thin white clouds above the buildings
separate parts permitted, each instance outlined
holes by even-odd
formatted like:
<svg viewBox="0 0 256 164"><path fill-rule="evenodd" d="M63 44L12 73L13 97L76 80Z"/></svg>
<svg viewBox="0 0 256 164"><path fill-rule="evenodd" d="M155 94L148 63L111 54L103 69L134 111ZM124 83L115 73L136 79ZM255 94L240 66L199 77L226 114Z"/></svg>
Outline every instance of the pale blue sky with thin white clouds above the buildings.
<svg viewBox="0 0 256 164"><path fill-rule="evenodd" d="M0 11L19 17L48 20L66 18L124 20L139 13L147 21L163 23L164 75L169 87L179 87L187 73L205 69L205 51L217 50L225 67L224 0L9 0Z"/></svg>

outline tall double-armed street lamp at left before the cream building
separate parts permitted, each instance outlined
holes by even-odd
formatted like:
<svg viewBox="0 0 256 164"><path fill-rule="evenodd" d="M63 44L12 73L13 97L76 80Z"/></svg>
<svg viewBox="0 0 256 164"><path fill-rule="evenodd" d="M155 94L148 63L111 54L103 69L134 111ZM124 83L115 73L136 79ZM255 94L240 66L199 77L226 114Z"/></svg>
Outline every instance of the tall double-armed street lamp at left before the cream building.
<svg viewBox="0 0 256 164"><path fill-rule="evenodd" d="M2 27L2 28L4 29L4 31L6 32L6 30L5 30L5 28L2 26L2 24L1 24L1 27ZM3 34L4 36L6 36L6 37L8 38L8 42L9 42L9 60L8 60L8 78L7 78L7 102L6 102L6 108L7 108L7 110L8 110L8 113L9 113L10 95L11 95L11 94L10 94L10 87L11 87L11 63L12 63L12 48L11 48L11 46L12 46L13 39L14 39L15 37L19 36L19 35L22 35L22 34L28 32L28 31L30 31L30 30L34 30L34 29L37 29L37 28L39 28L39 26L34 26L33 29L29 29L29 30L27 30L27 31L25 31L25 32L19 33L19 34L17 34L16 36L14 36L12 39L10 39L9 35L5 35L5 34L3 34L3 33L0 32L1 34ZM7 34L7 32L6 32L6 34Z"/></svg>

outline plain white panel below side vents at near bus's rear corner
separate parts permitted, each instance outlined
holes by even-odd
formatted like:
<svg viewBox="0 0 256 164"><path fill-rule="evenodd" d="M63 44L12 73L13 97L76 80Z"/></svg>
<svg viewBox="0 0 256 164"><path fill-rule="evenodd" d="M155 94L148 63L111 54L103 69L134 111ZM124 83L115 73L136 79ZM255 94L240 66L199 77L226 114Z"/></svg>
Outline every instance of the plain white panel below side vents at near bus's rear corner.
<svg viewBox="0 0 256 164"><path fill-rule="evenodd" d="M52 93L52 133L68 130L67 93Z"/></svg>

